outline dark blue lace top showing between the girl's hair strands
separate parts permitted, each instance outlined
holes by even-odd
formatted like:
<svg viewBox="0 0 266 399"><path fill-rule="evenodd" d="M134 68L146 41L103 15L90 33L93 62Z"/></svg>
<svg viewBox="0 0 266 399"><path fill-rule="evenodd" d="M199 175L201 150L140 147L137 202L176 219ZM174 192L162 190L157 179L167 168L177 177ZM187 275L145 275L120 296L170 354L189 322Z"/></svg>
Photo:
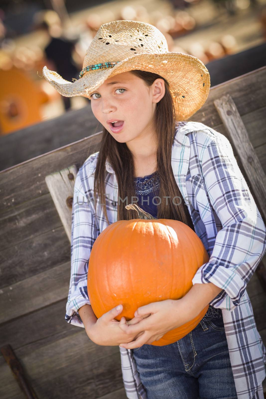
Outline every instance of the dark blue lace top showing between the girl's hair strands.
<svg viewBox="0 0 266 399"><path fill-rule="evenodd" d="M160 177L158 172L156 171L144 177L135 177L134 182L135 195L138 198L136 204L153 217L157 217L158 205L156 205L156 203L160 202L160 199L154 197L159 196L160 190Z"/></svg>

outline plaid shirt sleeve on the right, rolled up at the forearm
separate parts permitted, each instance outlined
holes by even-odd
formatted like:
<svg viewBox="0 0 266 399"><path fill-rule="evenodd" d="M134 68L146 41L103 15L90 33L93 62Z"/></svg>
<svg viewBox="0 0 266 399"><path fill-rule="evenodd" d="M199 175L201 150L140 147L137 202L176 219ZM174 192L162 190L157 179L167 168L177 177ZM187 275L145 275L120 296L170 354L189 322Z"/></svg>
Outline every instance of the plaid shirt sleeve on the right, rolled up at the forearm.
<svg viewBox="0 0 266 399"><path fill-rule="evenodd" d="M205 148L201 172L222 228L209 262L199 268L192 282L212 282L222 288L211 305L233 310L266 251L266 228L232 146L222 134Z"/></svg>

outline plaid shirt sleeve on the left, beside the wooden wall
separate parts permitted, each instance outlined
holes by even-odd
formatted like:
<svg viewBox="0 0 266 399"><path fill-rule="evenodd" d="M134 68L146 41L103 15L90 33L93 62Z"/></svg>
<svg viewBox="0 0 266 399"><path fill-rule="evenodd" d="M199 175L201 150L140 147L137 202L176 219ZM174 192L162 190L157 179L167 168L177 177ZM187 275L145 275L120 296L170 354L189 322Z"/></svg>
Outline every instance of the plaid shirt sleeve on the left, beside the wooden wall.
<svg viewBox="0 0 266 399"><path fill-rule="evenodd" d="M91 304L87 291L88 264L91 249L98 237L93 205L87 201L81 179L83 167L77 173L74 185L71 224L71 276L66 304L65 320L74 326L84 327L78 310Z"/></svg>

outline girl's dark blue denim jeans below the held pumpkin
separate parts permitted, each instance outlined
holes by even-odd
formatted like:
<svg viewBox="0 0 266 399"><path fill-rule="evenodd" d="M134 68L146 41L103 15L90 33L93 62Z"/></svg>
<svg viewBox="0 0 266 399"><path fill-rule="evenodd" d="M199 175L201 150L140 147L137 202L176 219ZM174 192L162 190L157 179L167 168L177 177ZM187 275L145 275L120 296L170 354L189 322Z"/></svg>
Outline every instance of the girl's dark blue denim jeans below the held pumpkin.
<svg viewBox="0 0 266 399"><path fill-rule="evenodd" d="M221 309L185 337L133 350L147 399L237 399Z"/></svg>

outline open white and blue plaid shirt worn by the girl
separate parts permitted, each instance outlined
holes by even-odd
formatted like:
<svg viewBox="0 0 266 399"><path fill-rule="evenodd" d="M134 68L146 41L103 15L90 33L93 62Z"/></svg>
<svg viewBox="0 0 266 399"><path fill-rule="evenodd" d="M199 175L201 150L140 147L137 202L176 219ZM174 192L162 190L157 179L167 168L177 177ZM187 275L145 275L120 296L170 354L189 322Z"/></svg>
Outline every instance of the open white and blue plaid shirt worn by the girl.
<svg viewBox="0 0 266 399"><path fill-rule="evenodd" d="M74 187L71 278L65 320L79 327L84 325L77 310L90 304L87 272L91 248L108 226L98 198L95 213L93 172L98 154L91 154L81 166ZM223 134L203 123L179 122L171 166L195 231L210 257L195 274L193 284L212 282L223 288L211 305L223 312L238 399L252 398L258 387L261 389L266 359L246 284L266 251L264 222ZM113 223L117 221L118 185L108 161L106 170L106 195L110 196L106 207ZM132 350L119 350L127 397L146 399Z"/></svg>

